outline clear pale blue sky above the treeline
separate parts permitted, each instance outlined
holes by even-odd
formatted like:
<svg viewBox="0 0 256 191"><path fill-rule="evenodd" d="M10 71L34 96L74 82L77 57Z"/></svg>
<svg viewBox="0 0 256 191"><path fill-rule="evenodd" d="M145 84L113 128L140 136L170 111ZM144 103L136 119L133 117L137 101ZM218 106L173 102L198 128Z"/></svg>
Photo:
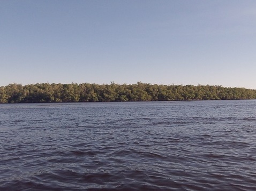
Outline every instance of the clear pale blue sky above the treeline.
<svg viewBox="0 0 256 191"><path fill-rule="evenodd" d="M0 86L256 89L256 1L2 0Z"/></svg>

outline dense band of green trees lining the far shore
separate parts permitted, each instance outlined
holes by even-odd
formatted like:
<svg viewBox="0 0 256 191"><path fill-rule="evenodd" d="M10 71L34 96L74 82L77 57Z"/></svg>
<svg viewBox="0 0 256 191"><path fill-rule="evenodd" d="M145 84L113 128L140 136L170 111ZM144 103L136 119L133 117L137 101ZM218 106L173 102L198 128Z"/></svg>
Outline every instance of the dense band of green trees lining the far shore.
<svg viewBox="0 0 256 191"><path fill-rule="evenodd" d="M217 85L9 84L0 87L0 103L186 101L256 99L256 90Z"/></svg>

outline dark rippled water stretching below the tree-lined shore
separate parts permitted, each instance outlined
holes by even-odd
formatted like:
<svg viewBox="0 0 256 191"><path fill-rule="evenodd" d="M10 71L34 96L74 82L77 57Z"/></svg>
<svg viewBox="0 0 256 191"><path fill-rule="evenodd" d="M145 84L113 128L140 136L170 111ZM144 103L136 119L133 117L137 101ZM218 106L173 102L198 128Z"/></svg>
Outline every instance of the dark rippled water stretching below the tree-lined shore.
<svg viewBox="0 0 256 191"><path fill-rule="evenodd" d="M0 190L256 190L256 100L0 105Z"/></svg>

